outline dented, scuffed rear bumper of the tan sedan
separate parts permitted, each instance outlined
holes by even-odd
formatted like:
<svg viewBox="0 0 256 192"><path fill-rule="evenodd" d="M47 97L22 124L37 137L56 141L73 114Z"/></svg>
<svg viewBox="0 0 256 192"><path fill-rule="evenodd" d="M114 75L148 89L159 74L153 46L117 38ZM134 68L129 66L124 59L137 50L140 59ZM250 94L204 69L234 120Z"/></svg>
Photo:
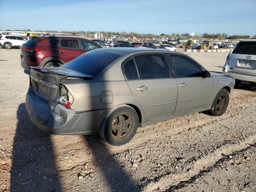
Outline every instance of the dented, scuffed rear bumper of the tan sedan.
<svg viewBox="0 0 256 192"><path fill-rule="evenodd" d="M32 122L50 134L96 134L110 109L77 114L61 104L50 106L34 93L26 95L26 109Z"/></svg>

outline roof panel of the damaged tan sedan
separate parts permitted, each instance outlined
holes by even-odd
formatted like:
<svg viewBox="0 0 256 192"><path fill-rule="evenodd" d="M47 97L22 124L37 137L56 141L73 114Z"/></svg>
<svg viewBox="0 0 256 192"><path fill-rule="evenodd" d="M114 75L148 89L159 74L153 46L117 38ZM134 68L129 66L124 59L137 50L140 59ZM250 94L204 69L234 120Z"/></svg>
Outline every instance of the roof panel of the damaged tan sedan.
<svg viewBox="0 0 256 192"><path fill-rule="evenodd" d="M94 49L91 51L102 51L102 52L108 52L108 53L113 53L113 54L117 54L117 55L125 55L125 54L129 54L129 53L156 53L156 52L162 52L162 53L166 53L170 51L167 50L157 50L157 49L152 49L152 48L144 48L142 49L138 49L138 48L131 48L131 47L114 47L114 48L101 48L101 49ZM184 53L179 53L182 55L185 55Z"/></svg>

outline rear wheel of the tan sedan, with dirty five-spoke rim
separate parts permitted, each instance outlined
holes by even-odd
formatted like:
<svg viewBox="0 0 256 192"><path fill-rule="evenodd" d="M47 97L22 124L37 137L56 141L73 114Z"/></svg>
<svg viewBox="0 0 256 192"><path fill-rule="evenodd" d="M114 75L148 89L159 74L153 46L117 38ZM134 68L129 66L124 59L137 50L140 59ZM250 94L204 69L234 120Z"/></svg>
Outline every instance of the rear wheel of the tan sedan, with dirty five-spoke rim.
<svg viewBox="0 0 256 192"><path fill-rule="evenodd" d="M129 142L137 132L139 118L137 112L128 105L120 105L110 110L99 129L102 140L114 146ZM115 131L114 131L115 130Z"/></svg>

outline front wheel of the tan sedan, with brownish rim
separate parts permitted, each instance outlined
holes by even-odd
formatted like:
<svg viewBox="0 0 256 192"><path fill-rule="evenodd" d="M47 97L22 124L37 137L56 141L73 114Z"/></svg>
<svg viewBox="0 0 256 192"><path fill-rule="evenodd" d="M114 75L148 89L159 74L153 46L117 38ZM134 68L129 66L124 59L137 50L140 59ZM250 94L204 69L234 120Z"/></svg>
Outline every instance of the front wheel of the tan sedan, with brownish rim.
<svg viewBox="0 0 256 192"><path fill-rule="evenodd" d="M229 93L226 89L221 89L214 102L212 104L212 108L208 111L212 116L221 116L224 114L228 107L229 102Z"/></svg>

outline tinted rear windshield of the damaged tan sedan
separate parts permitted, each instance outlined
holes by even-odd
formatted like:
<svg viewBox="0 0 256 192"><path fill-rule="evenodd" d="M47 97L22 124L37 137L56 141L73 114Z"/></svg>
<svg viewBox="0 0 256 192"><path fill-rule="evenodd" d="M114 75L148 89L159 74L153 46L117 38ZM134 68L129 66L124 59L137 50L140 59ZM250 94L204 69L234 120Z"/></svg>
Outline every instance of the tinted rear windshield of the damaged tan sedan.
<svg viewBox="0 0 256 192"><path fill-rule="evenodd" d="M74 58L61 67L78 71L87 75L96 76L118 57L120 57L120 55L113 53L89 51L77 58Z"/></svg>

